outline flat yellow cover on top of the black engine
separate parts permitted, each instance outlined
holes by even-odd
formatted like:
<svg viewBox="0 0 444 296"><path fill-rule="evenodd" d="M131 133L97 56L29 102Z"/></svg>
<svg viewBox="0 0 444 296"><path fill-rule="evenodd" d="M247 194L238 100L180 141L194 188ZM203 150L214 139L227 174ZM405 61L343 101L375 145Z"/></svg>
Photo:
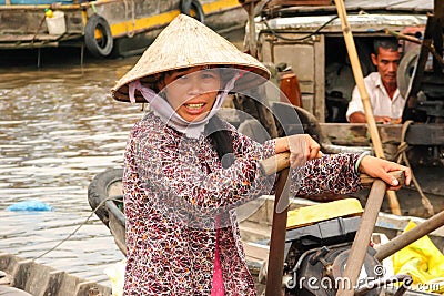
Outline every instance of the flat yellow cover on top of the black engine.
<svg viewBox="0 0 444 296"><path fill-rule="evenodd" d="M362 212L361 203L355 198L345 198L330 203L303 206L289 211L286 229L299 228L315 222L335 217L361 216Z"/></svg>

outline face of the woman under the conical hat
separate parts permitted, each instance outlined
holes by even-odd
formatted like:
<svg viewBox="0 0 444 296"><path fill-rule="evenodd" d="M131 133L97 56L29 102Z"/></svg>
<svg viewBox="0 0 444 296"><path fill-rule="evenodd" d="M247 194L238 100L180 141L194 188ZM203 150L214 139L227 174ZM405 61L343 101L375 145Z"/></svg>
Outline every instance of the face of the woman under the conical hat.
<svg viewBox="0 0 444 296"><path fill-rule="evenodd" d="M220 71L216 68L194 67L172 71L163 80L167 101L184 120L200 121L213 108L221 88Z"/></svg>

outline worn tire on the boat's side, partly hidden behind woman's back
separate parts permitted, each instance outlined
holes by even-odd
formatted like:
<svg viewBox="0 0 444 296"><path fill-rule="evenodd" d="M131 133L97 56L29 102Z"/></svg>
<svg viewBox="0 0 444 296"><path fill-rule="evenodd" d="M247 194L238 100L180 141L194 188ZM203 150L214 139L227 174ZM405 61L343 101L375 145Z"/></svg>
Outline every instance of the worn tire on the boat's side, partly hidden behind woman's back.
<svg viewBox="0 0 444 296"><path fill-rule="evenodd" d="M108 169L95 175L88 186L88 202L107 227L109 227L110 218L103 201L109 197L109 187L114 183L122 182L122 176L123 169ZM97 208L99 205L100 207Z"/></svg>

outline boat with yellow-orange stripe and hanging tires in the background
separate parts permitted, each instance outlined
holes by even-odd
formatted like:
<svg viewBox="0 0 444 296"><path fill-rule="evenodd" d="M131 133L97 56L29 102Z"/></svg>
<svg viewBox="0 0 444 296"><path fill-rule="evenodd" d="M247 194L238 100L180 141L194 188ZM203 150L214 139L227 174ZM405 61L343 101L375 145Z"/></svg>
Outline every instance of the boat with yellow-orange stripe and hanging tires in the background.
<svg viewBox="0 0 444 296"><path fill-rule="evenodd" d="M234 0L0 0L0 50L74 47L95 57L138 54L181 12L221 33L246 22Z"/></svg>

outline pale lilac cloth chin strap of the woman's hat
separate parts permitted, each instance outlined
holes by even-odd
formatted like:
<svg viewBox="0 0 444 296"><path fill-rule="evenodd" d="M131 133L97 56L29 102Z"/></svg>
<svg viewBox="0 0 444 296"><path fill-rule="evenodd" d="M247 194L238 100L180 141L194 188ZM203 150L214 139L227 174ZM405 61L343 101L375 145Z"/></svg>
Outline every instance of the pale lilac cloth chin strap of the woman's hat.
<svg viewBox="0 0 444 296"><path fill-rule="evenodd" d="M189 122L184 120L171 108L168 101L161 96L161 93L155 93L152 89L143 86L139 80L129 83L129 96L131 103L135 103L134 92L135 90L139 90L147 102L150 103L150 108L153 110L154 114L159 116L163 123L183 133L190 139L199 139L205 129L205 124L221 109L223 101L225 101L226 95L234 88L234 83L240 76L241 73L238 72L234 78L226 83L223 91L216 95L209 114L201 121Z"/></svg>

